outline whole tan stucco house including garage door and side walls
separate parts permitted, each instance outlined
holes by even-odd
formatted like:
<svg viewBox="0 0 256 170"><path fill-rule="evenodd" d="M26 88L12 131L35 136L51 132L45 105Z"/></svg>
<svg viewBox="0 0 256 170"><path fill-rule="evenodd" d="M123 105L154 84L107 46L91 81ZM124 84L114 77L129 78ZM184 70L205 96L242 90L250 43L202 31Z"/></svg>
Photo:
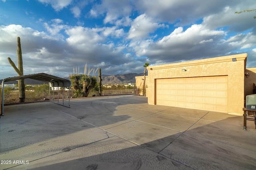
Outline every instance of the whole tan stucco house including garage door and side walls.
<svg viewBox="0 0 256 170"><path fill-rule="evenodd" d="M244 53L148 66L148 104L242 115L256 84L256 68L246 69L246 58ZM136 77L136 88L142 77Z"/></svg>

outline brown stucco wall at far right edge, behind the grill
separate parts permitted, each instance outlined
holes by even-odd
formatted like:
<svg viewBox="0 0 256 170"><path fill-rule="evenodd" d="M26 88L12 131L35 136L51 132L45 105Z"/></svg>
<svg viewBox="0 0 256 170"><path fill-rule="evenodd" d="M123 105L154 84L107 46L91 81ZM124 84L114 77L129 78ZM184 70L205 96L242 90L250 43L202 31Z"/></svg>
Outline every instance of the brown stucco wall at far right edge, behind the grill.
<svg viewBox="0 0 256 170"><path fill-rule="evenodd" d="M246 68L244 74L244 100L247 95L253 94L253 83L256 84L256 68Z"/></svg>

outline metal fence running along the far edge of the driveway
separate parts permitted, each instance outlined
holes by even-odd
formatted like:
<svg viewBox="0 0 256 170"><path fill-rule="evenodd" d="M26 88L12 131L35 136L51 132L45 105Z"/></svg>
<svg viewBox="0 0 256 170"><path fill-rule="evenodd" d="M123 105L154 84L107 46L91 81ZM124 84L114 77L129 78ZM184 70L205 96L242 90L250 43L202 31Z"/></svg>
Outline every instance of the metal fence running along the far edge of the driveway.
<svg viewBox="0 0 256 170"><path fill-rule="evenodd" d="M102 96L111 95L111 94L134 94L133 89L123 89L123 90L102 90ZM92 95L98 95L98 92L91 91L88 95L88 97L91 97ZM42 101L44 99L50 99L50 100L57 100L59 96L59 99L62 100L62 92L51 92L50 97L49 93L26 93L25 94L25 102L33 102L33 101ZM63 93L64 100L68 99L68 92ZM73 92L70 91L70 97L73 96ZM19 94L9 94L4 96L4 103L18 103L19 102Z"/></svg>

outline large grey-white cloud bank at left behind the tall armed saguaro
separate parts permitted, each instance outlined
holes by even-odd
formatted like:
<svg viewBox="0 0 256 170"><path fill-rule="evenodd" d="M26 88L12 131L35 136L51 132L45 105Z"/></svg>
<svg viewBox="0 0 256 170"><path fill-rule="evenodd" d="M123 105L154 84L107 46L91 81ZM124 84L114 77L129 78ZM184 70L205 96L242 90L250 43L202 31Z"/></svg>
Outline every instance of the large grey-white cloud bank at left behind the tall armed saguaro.
<svg viewBox="0 0 256 170"><path fill-rule="evenodd" d="M104 33L106 36L114 36L118 31L120 29L108 27L91 29L72 27L66 30L68 38L64 41L63 39L52 39L52 36L47 33L21 25L0 26L1 75L2 71L6 72L9 69L8 76L16 76L7 57L16 61L17 35L21 39L24 74L46 72L64 77L72 72L74 66L83 67L86 62L91 66L101 66L103 74L138 71L133 68L143 64L136 61L134 56L124 54L122 52L125 49L124 46L104 43L106 39ZM130 62L133 63L130 64L130 68L123 65Z"/></svg>

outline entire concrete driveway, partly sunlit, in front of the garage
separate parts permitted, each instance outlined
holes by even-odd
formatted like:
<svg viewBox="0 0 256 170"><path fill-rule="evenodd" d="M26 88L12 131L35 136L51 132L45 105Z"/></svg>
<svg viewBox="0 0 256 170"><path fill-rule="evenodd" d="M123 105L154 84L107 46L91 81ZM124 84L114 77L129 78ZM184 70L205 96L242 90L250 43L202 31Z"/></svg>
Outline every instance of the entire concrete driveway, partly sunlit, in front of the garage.
<svg viewBox="0 0 256 170"><path fill-rule="evenodd" d="M148 105L142 96L5 106L0 169L256 169L256 129L247 125L242 116Z"/></svg>

